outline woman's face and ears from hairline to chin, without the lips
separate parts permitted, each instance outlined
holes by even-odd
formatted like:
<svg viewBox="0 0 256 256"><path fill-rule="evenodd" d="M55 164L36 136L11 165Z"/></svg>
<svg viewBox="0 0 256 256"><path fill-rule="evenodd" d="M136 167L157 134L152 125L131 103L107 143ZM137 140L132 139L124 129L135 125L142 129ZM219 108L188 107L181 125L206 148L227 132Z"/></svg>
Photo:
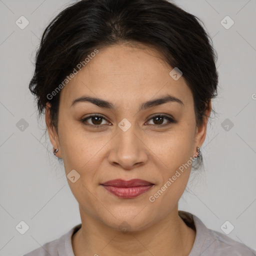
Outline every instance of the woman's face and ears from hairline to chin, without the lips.
<svg viewBox="0 0 256 256"><path fill-rule="evenodd" d="M84 216L116 230L123 221L131 230L142 230L177 205L207 119L196 127L192 92L182 76L175 80L169 75L171 70L159 52L146 46L101 48L62 88L58 134L46 110L51 143L58 147L66 175L75 176L75 182L67 181ZM172 100L145 104L166 96ZM109 104L74 102L81 97ZM153 185L125 198L101 185L112 179Z"/></svg>

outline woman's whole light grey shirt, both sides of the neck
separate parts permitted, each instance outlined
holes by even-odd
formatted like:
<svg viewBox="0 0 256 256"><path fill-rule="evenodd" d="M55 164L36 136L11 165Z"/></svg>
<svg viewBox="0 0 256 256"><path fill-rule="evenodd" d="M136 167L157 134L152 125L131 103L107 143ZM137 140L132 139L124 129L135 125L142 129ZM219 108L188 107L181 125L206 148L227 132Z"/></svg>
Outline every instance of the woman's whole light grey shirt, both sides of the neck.
<svg viewBox="0 0 256 256"><path fill-rule="evenodd" d="M196 230L194 244L188 256L256 256L255 250L229 238L224 233L207 228L195 215L181 210L178 214L187 226ZM23 256L75 256L71 236L80 227L81 223L58 239L44 243L43 246Z"/></svg>

